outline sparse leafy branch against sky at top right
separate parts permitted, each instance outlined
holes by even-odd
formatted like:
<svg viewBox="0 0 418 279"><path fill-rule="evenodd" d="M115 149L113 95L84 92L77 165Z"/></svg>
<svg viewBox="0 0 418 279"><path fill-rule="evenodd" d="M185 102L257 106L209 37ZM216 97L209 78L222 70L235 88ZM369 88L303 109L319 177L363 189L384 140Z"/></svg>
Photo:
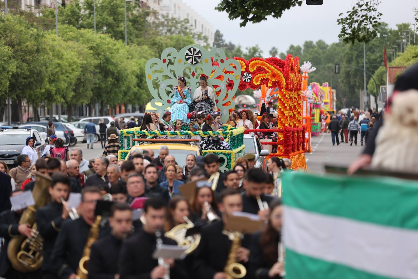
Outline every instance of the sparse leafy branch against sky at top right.
<svg viewBox="0 0 418 279"><path fill-rule="evenodd" d="M341 25L341 33L344 43L354 42L368 43L377 37L377 29L380 25L382 13L377 12L379 0L359 0L353 8L347 11L347 16L337 19ZM339 16L342 16L340 13Z"/></svg>

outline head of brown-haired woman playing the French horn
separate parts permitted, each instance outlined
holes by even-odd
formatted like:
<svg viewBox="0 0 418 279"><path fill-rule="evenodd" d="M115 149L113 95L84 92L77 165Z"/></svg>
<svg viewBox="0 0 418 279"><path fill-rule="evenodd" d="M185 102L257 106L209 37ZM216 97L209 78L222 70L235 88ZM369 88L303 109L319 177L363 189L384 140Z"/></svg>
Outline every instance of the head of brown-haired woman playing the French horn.
<svg viewBox="0 0 418 279"><path fill-rule="evenodd" d="M186 223L184 216L190 217L189 201L181 195L174 196L168 204L165 231L171 230L176 225Z"/></svg>

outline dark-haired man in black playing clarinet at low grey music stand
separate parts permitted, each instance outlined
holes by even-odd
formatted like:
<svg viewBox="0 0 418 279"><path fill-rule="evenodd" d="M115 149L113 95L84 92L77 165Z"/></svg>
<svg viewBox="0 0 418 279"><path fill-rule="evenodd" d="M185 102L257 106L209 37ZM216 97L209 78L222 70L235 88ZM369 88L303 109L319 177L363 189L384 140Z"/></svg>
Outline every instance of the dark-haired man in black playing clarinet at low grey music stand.
<svg viewBox="0 0 418 279"><path fill-rule="evenodd" d="M120 253L120 279L159 279L166 274L166 267L158 265L152 254L156 248L155 233L163 229L166 221L166 207L163 200L151 197L144 203L143 230L132 235L122 244ZM163 244L176 245L176 241L161 235ZM182 261L166 259L170 265L170 278L188 278Z"/></svg>

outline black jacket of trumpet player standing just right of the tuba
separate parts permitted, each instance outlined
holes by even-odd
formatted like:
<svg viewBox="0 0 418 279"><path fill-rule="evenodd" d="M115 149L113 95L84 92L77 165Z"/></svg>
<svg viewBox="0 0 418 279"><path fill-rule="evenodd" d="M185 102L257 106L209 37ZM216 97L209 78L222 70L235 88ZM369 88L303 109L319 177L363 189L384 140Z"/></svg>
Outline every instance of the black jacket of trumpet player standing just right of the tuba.
<svg viewBox="0 0 418 279"><path fill-rule="evenodd" d="M51 269L52 249L64 221L61 215L62 204L58 202L50 202L35 213L35 222L38 224L39 234L43 237L43 270Z"/></svg>

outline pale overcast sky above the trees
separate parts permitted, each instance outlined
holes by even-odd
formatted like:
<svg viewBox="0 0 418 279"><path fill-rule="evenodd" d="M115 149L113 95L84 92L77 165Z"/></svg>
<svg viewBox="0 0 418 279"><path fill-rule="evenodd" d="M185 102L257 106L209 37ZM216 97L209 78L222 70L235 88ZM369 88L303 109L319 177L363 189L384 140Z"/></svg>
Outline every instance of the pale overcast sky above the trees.
<svg viewBox="0 0 418 279"><path fill-rule="evenodd" d="M283 0L282 0L283 1ZM240 28L240 20L229 20L227 13L215 11L220 0L183 0L197 13L212 22L214 31L219 29L225 41L248 47L258 44L263 49L264 57L276 46L279 53L288 46L301 45L304 41L322 39L331 44L338 41L341 27L336 20L339 13L351 10L355 0L324 0L324 5L308 6L305 1L301 7L286 10L281 18L268 17L260 23ZM395 28L398 23L413 23L413 8L418 7L418 0L382 0L378 10L382 21Z"/></svg>

